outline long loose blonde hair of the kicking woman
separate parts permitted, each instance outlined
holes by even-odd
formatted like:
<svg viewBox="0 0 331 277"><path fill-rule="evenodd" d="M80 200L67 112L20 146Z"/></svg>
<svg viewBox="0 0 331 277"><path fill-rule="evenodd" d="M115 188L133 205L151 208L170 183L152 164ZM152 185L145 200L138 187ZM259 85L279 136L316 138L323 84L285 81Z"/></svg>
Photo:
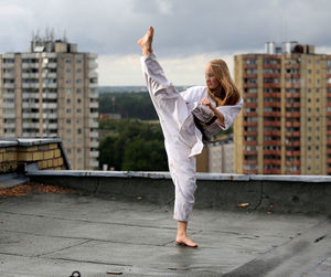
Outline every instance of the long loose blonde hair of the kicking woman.
<svg viewBox="0 0 331 277"><path fill-rule="evenodd" d="M213 60L209 62L212 72L221 84L221 90L210 89L209 95L216 103L216 106L235 105L239 98L239 90L231 78L228 67L223 60Z"/></svg>

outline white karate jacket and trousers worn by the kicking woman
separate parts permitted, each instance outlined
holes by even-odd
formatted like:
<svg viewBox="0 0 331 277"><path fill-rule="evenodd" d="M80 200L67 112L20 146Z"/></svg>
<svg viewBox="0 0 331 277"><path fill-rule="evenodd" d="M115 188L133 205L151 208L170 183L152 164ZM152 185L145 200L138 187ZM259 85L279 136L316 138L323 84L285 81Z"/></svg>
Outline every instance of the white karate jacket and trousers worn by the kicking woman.
<svg viewBox="0 0 331 277"><path fill-rule="evenodd" d="M195 86L178 93L166 78L153 53L141 56L141 66L160 119L169 170L175 187L173 219L188 222L196 189L195 156L203 149L202 134L195 127L192 110L207 96L207 89L204 86ZM212 99L211 102L215 105ZM217 108L223 114L225 124L225 127L220 128L227 129L233 124L242 104L241 99L237 105Z"/></svg>

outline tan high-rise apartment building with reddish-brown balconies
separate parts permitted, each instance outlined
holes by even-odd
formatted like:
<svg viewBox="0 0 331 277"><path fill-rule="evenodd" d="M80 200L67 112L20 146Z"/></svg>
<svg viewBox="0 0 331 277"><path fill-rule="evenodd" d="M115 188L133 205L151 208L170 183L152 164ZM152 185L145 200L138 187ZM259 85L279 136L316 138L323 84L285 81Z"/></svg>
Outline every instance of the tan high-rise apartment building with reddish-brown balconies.
<svg viewBox="0 0 331 277"><path fill-rule="evenodd" d="M235 172L331 174L331 55L297 42L235 56Z"/></svg>

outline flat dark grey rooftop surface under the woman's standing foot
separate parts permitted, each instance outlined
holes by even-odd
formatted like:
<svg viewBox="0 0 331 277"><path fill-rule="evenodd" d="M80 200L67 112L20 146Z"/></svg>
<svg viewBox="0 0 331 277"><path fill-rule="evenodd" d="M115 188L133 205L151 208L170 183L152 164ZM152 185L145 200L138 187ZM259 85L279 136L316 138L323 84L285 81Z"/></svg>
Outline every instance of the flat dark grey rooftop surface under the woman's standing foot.
<svg viewBox="0 0 331 277"><path fill-rule="evenodd" d="M0 196L1 277L331 276L327 214L197 207L189 248L174 243L172 203L33 188Z"/></svg>

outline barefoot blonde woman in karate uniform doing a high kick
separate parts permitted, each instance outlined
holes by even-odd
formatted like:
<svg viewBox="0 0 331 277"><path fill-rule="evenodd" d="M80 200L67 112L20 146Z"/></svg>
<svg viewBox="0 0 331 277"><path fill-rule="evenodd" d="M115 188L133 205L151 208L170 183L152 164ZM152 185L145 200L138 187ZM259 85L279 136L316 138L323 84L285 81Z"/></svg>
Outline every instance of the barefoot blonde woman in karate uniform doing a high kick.
<svg viewBox="0 0 331 277"><path fill-rule="evenodd" d="M207 63L206 86L194 86L179 94L166 78L153 54L152 39L153 28L150 26L138 41L138 45L142 51L142 72L160 119L169 170L175 188L175 242L196 247L197 244L186 234L196 189L195 156L202 151L203 138L210 139L233 124L243 100L222 60Z"/></svg>

